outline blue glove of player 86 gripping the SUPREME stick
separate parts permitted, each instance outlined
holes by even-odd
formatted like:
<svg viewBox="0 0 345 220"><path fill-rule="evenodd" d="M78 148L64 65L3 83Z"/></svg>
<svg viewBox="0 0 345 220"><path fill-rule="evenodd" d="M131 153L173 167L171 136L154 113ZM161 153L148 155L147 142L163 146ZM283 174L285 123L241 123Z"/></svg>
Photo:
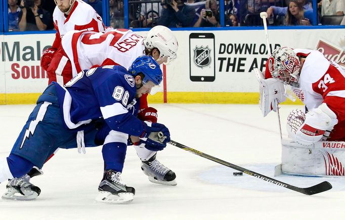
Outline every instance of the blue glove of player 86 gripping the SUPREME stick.
<svg viewBox="0 0 345 220"><path fill-rule="evenodd" d="M161 137L158 133L163 134ZM145 121L145 133L140 137L140 143L145 143L145 148L151 151L161 151L170 141L169 129L160 123L151 123ZM143 140L146 138L146 140Z"/></svg>

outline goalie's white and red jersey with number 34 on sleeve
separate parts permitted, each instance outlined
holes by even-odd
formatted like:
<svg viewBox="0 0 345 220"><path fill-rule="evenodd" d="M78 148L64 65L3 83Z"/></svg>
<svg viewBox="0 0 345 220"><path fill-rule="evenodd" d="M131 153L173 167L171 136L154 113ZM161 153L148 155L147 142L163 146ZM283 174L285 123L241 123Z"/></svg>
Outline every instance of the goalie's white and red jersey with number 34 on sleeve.
<svg viewBox="0 0 345 220"><path fill-rule="evenodd" d="M299 88L293 89L295 95L308 109L326 103L338 119L329 140L345 140L345 71L319 51L293 51L298 57L306 57L299 76Z"/></svg>

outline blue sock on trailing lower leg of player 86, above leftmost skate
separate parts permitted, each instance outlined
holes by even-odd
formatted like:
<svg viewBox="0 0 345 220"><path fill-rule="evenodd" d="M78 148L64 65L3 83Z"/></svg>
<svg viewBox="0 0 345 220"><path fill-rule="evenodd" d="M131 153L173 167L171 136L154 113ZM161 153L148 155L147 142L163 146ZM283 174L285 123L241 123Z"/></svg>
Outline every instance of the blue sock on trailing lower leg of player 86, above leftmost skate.
<svg viewBox="0 0 345 220"><path fill-rule="evenodd" d="M23 175L28 173L34 166L34 164L29 160L15 154L10 154L10 156L7 157L7 163L13 177L15 178L22 177Z"/></svg>

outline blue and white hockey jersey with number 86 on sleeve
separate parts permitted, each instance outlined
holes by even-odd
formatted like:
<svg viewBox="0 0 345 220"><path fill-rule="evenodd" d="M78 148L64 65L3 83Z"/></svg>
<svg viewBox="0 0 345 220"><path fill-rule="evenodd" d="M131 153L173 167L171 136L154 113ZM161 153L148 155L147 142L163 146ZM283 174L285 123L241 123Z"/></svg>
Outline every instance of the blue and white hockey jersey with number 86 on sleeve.
<svg viewBox="0 0 345 220"><path fill-rule="evenodd" d="M112 130L134 136L144 133L144 122L136 117L139 104L135 80L124 67L84 70L65 87L55 86L67 128L82 129L92 120L104 118Z"/></svg>

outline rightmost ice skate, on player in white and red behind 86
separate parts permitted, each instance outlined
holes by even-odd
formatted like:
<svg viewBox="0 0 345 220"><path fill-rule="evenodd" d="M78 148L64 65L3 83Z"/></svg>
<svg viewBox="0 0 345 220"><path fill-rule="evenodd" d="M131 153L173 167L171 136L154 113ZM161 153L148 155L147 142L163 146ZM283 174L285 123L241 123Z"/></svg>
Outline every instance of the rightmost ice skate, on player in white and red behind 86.
<svg viewBox="0 0 345 220"><path fill-rule="evenodd" d="M149 177L149 181L156 184L176 186L176 174L171 169L165 167L158 160L156 154L149 160L142 161L141 169Z"/></svg>

